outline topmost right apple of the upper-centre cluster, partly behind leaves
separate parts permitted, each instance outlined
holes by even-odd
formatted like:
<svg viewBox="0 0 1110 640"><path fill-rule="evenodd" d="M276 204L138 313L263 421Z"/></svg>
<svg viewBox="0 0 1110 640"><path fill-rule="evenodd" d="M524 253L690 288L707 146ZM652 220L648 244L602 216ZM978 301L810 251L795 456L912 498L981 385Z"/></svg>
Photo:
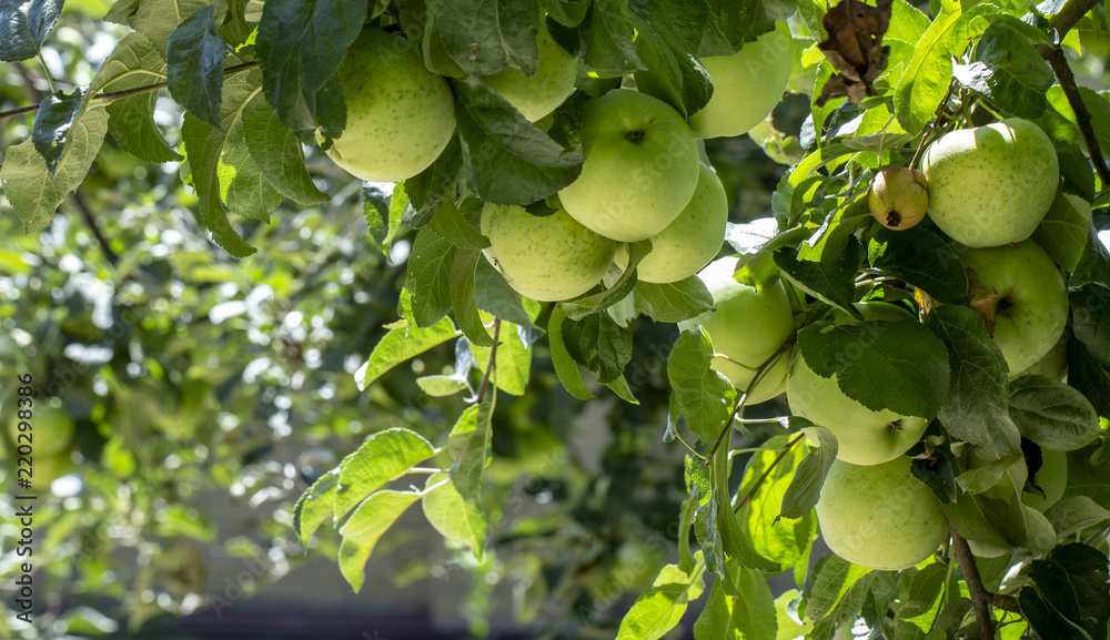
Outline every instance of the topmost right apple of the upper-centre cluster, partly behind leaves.
<svg viewBox="0 0 1110 640"><path fill-rule="evenodd" d="M713 95L689 124L698 138L740 135L759 124L783 99L794 68L794 38L786 22L746 42L731 55L708 55L698 62L713 79ZM636 87L678 103L670 83L657 71L636 72Z"/></svg>

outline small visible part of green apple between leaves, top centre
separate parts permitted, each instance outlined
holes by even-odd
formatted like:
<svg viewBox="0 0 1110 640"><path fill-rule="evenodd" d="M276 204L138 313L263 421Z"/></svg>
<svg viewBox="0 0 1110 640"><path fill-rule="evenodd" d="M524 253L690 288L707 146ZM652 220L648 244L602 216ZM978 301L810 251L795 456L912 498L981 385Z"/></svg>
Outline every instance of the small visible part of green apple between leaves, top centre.
<svg viewBox="0 0 1110 640"><path fill-rule="evenodd" d="M536 72L505 69L483 78L486 87L507 100L529 122L535 122L563 104L574 91L578 60L558 45L547 27L539 30L539 60Z"/></svg>

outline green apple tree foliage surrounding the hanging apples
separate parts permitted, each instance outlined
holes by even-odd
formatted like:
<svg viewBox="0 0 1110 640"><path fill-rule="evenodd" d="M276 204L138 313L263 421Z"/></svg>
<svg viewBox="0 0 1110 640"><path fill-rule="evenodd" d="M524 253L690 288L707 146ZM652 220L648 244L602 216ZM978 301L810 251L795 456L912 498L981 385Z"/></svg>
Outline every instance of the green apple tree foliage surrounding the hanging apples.
<svg viewBox="0 0 1110 640"><path fill-rule="evenodd" d="M147 491L137 496L149 500L131 511L134 536L179 536L185 547L210 539L179 502L190 491L242 495L262 482L289 494L296 484L284 481L280 465L249 480L234 465L222 466L234 459L245 469L269 455L265 434L235 429L266 407L273 434L335 430L350 439L360 430L341 425L352 423L370 431L342 460L299 478L312 482L296 487L300 499L285 522L306 548L332 555L356 591L375 547L402 514L418 508L476 570L518 562L528 576L525 610L535 614L536 602L561 600L568 613L553 624L607 628L617 638L662 638L699 600L693 631L706 639L828 639L857 620L899 639L973 637L993 627L1002 638L1107 638L1110 251L1099 234L1110 226L1110 190L1091 158L1100 161L1097 148L1110 146L1110 99L1077 88L1061 53L1098 48L1104 4L892 0L870 8L884 17L880 43L864 19L837 24L826 20L834 8L808 0L118 0L105 9L103 21L119 26L111 53L83 70L85 81L74 72L51 82L33 122L4 130L13 140L3 141L0 166L7 206L27 232L49 232L41 236L46 260L29 266L20 257L38 251L27 240L11 241L18 244L0 258L8 282L26 286L12 297L27 301L17 308L38 296L42 309L21 318L39 327L36 335L17 334L6 348L40 367L43 379L57 377L58 364L27 355L29 345L42 344L36 341L64 333L91 344L111 328L111 344L131 345L67 346L67 357L83 364L52 395L65 392L77 406L71 414L93 429L78 441L80 455L100 467L92 486L127 482ZM60 1L3 0L0 59L41 57L62 11ZM712 307L698 278L637 282L635 265L649 247L633 245L629 267L595 291L538 304L482 257L482 202L543 215L577 176L589 98L644 69L649 52L659 65L652 71L678 89L676 106L694 113L713 90L697 59L735 52L784 20L796 51L785 101L800 98L808 115L796 136L773 120L748 134L783 165L781 177L769 216L729 225L724 251L739 256L738 281L758 288L783 278L797 294L796 331L785 348L820 363L823 377L838 374L840 390L865 406L930 420L908 455L942 504L952 540L901 571L835 555L811 561L814 506L836 440L825 431L814 431L823 446L807 440L799 430L813 425L780 403L749 410L746 389L709 367L708 336L675 329ZM451 143L392 190L344 181L317 148L317 131L326 141L346 124L334 75L366 23L405 34L427 69L450 79L455 100ZM537 125L477 78L534 70L542 24L578 58L579 73L575 93ZM855 40L855 64L846 64L852 57L844 40L860 35L856 27L862 40ZM837 55L817 45L836 40L847 48ZM183 113L180 125L155 118L165 110L162 89L170 111ZM1077 99L1087 113L1073 108ZM867 206L878 170L911 164L944 131L1005 118L1048 133L1062 193L1093 210L1084 215L1058 197L1033 234L1067 276L1066 384L1008 379L976 313L975 283L944 234L928 221L885 230ZM128 179L111 170L105 159L113 155L171 171ZM137 195L128 180L150 192ZM119 206L138 210L119 214L130 220L115 224L118 237L98 241L112 257L99 270L58 257L97 251L88 233L74 231L75 217L54 215L91 189L121 189ZM369 231L377 253L359 251L354 225ZM411 254L397 253L406 237ZM253 272L249 280L229 266L234 260ZM93 280L113 282L100 302L81 284ZM246 291L250 283L261 284ZM836 312L858 316L854 303L861 299L901 304L921 322L830 322ZM159 313L131 308L147 305ZM204 309L205 322L193 322L191 308ZM249 343L221 354L226 323L240 317ZM332 328L316 331L323 325ZM369 356L345 366L353 353ZM327 393L295 384L306 362L329 374ZM266 389L293 393L232 382L260 379L273 385ZM82 385L89 390L79 394ZM168 388L193 413L174 424L135 419L158 416L149 403ZM425 410L403 406L415 397ZM607 406L620 425L619 446L605 451L601 475L542 453L573 446L561 441L575 419L572 402ZM292 421L290 406L300 412ZM391 419L363 415L390 412ZM151 443L154 433L168 438ZM174 446L174 435L190 446ZM660 438L666 445L645 444ZM529 468L506 470L504 458L513 456L498 453L506 441L514 443L511 453L536 447ZM167 473L174 467L159 460L171 454L159 447L173 448L173 464L189 469L191 485ZM1038 517L1021 508L1025 487L987 496L1016 463L1035 476L1041 448L1067 451L1059 501ZM659 450L669 454L660 460ZM973 467L971 455L991 461ZM660 461L672 466L654 467ZM517 471L542 479L531 496L565 502L559 518L511 517L506 478ZM655 495L638 495L637 482ZM623 515L634 507L639 528L629 530ZM78 519L97 512L62 509L58 517L95 531L103 520ZM585 540L569 522L588 532ZM650 547L648 538L664 544L627 561ZM957 558L963 540L998 552L983 553L971 570L968 557ZM573 549L578 561L559 563L538 548L545 545ZM664 565L664 555L673 562ZM179 569L188 558L159 557ZM793 588L776 598L768 579L778 576ZM623 618L606 616L632 588L638 595ZM189 587L167 587L181 589Z"/></svg>

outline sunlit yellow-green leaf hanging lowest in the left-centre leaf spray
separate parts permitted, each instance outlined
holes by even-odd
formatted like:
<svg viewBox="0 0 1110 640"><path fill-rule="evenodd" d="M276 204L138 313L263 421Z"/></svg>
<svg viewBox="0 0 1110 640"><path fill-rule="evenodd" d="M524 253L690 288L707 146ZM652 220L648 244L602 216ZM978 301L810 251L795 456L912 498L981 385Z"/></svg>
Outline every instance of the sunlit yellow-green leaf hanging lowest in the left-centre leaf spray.
<svg viewBox="0 0 1110 640"><path fill-rule="evenodd" d="M340 529L340 571L354 592L362 589L366 561L382 534L389 529L401 514L420 498L416 491L377 491L367 498L351 519Z"/></svg>

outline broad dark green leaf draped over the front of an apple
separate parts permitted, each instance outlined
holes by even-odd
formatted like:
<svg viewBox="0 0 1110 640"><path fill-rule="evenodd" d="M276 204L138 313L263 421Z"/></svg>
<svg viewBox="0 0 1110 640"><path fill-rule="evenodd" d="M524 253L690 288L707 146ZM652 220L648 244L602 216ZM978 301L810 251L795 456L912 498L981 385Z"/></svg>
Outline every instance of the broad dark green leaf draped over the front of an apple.
<svg viewBox="0 0 1110 640"><path fill-rule="evenodd" d="M818 322L798 332L806 364L837 376L848 397L877 412L932 418L949 393L945 344L915 322Z"/></svg>

